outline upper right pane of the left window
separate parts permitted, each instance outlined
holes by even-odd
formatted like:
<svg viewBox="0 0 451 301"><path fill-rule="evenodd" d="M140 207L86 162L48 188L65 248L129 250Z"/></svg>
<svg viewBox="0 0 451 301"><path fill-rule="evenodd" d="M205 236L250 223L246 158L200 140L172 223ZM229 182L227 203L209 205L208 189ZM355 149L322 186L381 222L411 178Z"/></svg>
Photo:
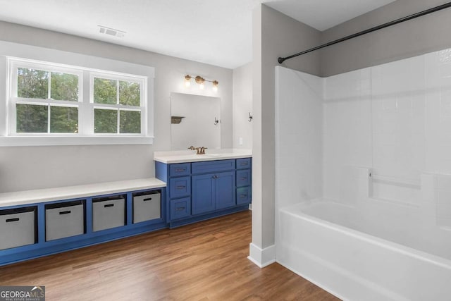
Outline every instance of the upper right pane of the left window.
<svg viewBox="0 0 451 301"><path fill-rule="evenodd" d="M51 73L51 99L78 102L78 75Z"/></svg>

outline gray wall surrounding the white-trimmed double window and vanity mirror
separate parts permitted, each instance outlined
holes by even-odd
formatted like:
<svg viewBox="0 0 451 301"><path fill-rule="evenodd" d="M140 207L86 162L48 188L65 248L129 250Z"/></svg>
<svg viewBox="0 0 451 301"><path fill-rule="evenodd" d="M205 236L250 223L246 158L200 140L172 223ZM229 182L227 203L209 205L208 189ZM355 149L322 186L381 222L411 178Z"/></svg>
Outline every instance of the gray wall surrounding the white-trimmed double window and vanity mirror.
<svg viewBox="0 0 451 301"><path fill-rule="evenodd" d="M0 147L0 192L153 177L154 151L171 149L170 94L189 93L187 73L219 81L203 93L221 97L222 145L233 145L233 70L13 23L0 22L0 40L155 67L154 145Z"/></svg>

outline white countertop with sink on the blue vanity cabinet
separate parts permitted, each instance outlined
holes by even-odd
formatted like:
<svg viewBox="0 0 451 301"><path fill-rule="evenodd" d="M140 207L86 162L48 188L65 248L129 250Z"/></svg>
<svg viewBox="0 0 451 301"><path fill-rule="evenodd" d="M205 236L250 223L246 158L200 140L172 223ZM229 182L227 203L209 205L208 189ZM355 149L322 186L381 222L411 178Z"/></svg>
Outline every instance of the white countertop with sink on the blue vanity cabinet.
<svg viewBox="0 0 451 301"><path fill-rule="evenodd" d="M185 163L199 161L215 161L226 159L249 158L252 156L251 149L206 149L206 154L196 154L196 151L170 151L154 152L154 160L161 163Z"/></svg>

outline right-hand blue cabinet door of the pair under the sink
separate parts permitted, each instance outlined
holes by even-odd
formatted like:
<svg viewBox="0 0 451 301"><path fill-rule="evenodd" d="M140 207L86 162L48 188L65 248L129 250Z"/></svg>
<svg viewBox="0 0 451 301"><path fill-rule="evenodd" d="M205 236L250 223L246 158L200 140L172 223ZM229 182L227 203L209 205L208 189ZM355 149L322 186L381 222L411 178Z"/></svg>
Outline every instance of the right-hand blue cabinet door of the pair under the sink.
<svg viewBox="0 0 451 301"><path fill-rule="evenodd" d="M235 206L235 171L215 174L216 209Z"/></svg>

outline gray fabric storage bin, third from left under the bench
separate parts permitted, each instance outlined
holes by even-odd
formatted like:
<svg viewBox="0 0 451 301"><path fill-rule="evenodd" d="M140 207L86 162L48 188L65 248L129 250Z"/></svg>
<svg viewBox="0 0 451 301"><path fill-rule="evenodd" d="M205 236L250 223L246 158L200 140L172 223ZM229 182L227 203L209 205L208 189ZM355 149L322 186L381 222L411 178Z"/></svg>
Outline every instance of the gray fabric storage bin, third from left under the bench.
<svg viewBox="0 0 451 301"><path fill-rule="evenodd" d="M92 200L92 231L125 225L125 198Z"/></svg>

